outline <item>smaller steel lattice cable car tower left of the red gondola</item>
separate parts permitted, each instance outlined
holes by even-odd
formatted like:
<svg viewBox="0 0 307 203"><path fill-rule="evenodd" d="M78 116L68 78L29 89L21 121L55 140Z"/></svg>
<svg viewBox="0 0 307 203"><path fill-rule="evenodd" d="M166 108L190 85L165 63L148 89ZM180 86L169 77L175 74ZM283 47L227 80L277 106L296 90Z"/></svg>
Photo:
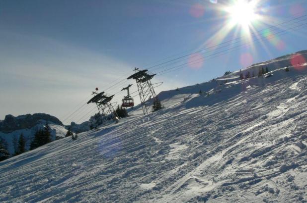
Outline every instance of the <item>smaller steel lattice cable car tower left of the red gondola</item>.
<svg viewBox="0 0 307 203"><path fill-rule="evenodd" d="M88 103L96 103L98 111L100 115L102 116L103 122L107 122L108 115L112 115L111 119L116 119L118 115L116 114L116 111L114 110L114 107L111 103L111 100L115 95L107 96L105 92L98 93L98 88L96 88L96 92L92 92L92 95L94 97L87 101Z"/></svg>

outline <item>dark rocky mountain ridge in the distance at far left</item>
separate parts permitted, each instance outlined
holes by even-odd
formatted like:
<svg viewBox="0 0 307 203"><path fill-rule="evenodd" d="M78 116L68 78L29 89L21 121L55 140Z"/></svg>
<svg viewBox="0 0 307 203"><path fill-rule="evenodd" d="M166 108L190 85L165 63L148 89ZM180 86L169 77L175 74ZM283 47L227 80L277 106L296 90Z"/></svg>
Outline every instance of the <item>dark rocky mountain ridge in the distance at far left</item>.
<svg viewBox="0 0 307 203"><path fill-rule="evenodd" d="M11 133L15 130L30 129L41 120L64 126L57 117L45 113L26 114L17 117L9 114L5 116L4 120L0 121L0 132Z"/></svg>

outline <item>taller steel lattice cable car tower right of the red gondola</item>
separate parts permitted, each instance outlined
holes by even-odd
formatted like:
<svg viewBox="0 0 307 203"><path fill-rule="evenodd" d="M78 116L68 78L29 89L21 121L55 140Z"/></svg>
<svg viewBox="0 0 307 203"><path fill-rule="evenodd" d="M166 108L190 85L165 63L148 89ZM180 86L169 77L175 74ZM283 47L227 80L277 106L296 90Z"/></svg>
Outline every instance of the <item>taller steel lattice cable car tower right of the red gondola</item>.
<svg viewBox="0 0 307 203"><path fill-rule="evenodd" d="M139 68L135 68L134 71L136 73L129 76L127 79L136 80L143 113L145 115L149 113L149 109L151 107L151 105L146 103L146 101L156 97L153 84L151 82L151 79L153 79L155 74L150 75L146 73L148 70L139 70Z"/></svg>

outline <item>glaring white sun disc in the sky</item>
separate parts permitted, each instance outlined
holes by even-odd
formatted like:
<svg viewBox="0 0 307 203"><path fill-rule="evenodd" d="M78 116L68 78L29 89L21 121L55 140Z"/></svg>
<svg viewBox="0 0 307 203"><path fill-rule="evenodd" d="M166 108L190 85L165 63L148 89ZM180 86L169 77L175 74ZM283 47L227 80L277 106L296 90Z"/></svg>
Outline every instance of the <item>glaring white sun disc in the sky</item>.
<svg viewBox="0 0 307 203"><path fill-rule="evenodd" d="M230 23L232 25L248 28L257 19L253 1L236 0L233 5L228 7L227 11L230 14Z"/></svg>

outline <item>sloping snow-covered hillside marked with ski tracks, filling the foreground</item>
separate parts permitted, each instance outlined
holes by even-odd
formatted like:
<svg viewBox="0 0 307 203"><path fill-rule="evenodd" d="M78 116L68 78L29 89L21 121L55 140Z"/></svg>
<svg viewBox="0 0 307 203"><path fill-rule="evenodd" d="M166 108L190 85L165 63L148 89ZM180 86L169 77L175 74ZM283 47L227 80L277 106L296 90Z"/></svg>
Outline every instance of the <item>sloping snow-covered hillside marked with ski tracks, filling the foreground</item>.
<svg viewBox="0 0 307 203"><path fill-rule="evenodd" d="M286 72L292 56L4 160L0 202L306 202L307 63Z"/></svg>

